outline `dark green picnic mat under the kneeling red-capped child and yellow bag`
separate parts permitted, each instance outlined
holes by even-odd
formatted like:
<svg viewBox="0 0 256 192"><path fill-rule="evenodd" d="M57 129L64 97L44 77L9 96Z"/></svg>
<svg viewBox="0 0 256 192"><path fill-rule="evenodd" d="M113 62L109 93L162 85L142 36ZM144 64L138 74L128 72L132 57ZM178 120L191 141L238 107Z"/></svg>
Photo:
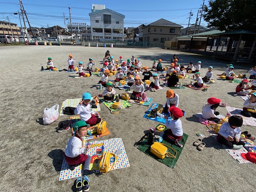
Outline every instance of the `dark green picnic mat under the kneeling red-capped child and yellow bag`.
<svg viewBox="0 0 256 192"><path fill-rule="evenodd" d="M160 125L160 124L158 124L156 127L158 127L159 125ZM160 158L158 158L157 156L155 156L154 154L152 154L152 153L150 152L150 146L148 145L148 139L147 139L147 138L145 138L145 139L138 145L137 148L138 148L139 150L141 150L142 152L144 152L145 154L149 155L150 157L152 157L152 158L158 160L159 162L165 164L166 166L168 166L168 167L170 167L170 168L174 168L176 162L178 161L178 158L180 157L180 154L181 154L181 152L182 152L182 149L184 148L184 145L185 145L187 139L188 139L188 135L184 133L183 136L182 136L182 139L179 141L179 143L182 144L183 147L178 147L178 146L176 146L176 145L172 145L172 144L170 144L170 143L168 143L168 142L166 142L166 141L164 141L164 140L162 141L163 144L166 144L166 145L168 145L168 146L171 146L172 148L174 148L174 150L176 150L177 155L176 155L176 158L175 158L175 159L174 159L174 158L167 158L167 157L165 157L164 159L160 159ZM168 149L168 152L171 152L172 154L174 154L173 151L170 150L170 149Z"/></svg>

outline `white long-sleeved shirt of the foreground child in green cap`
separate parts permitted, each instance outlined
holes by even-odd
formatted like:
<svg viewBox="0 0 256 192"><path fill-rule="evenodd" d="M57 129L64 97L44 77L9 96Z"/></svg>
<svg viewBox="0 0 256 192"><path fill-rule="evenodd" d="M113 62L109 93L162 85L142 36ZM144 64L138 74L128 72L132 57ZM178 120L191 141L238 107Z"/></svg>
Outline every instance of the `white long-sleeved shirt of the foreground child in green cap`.
<svg viewBox="0 0 256 192"><path fill-rule="evenodd" d="M86 148L82 148L82 140L80 140L80 138L74 136L68 140L68 144L65 149L66 156L74 158L86 152Z"/></svg>

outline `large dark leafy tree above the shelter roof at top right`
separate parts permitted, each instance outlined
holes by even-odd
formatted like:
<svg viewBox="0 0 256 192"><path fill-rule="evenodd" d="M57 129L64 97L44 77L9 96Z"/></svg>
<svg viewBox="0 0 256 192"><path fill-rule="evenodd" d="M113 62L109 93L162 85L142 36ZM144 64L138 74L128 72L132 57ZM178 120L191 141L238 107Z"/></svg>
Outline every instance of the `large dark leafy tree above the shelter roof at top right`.
<svg viewBox="0 0 256 192"><path fill-rule="evenodd" d="M256 32L256 0L210 0L204 9L208 27Z"/></svg>

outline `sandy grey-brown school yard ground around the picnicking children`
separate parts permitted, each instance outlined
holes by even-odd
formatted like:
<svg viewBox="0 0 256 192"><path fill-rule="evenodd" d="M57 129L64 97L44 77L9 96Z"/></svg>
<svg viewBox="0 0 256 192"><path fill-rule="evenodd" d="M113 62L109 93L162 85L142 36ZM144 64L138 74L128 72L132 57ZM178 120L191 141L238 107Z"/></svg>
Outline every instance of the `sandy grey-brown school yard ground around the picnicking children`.
<svg viewBox="0 0 256 192"><path fill-rule="evenodd" d="M101 67L106 50L114 58L122 56L125 60L133 54L140 58L142 65L152 66L154 59L161 58L163 66L169 66L173 54L178 54L179 62L187 66L192 61L202 61L200 70L206 74L208 66L213 66L216 74L226 69L228 62L213 60L210 57L164 50L160 48L102 48L82 46L2 46L0 47L2 64L0 65L0 191L72 191L75 179L58 181L63 160L63 151L71 137L71 130L57 133L58 123L69 116L60 116L51 125L43 126L36 120L42 118L44 108L54 104L61 106L68 98L80 98L84 92L98 95L100 90L90 88L97 84L99 77L71 78L66 72L41 72L51 57L59 69L67 68L68 54L73 54L78 61L87 64L89 58ZM244 74L253 65L237 66L236 74ZM114 79L114 76L110 77ZM190 79L182 80L183 83ZM105 175L90 175L90 191L128 191L128 192L252 192L256 188L255 165L238 164L206 132L206 126L193 116L202 111L202 106L210 97L220 98L228 106L242 108L244 100L229 93L234 92L237 83L216 80L207 92L201 90L176 89L180 96L179 108L186 111L181 118L184 133L188 140L174 169L144 154L134 143L144 135L144 130L155 127L158 122L143 118L148 106L132 104L132 107L118 114L100 104L100 115L107 121L110 135L98 138L122 138L130 167L113 170ZM153 102L165 104L166 90L147 91ZM122 90L116 90L122 93ZM225 108L218 108L220 114L226 115ZM256 136L256 128L242 126ZM206 136L206 147L196 150L192 143L198 139L196 133Z"/></svg>

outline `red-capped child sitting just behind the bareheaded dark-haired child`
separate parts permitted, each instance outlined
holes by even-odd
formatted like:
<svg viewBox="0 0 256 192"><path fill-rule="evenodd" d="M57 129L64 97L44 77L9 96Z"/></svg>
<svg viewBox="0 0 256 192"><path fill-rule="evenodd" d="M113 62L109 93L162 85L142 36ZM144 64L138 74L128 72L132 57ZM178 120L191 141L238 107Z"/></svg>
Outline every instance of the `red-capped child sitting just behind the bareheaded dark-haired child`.
<svg viewBox="0 0 256 192"><path fill-rule="evenodd" d="M208 98L208 103L203 106L202 118L218 123L220 119L217 115L220 113L216 111L216 108L219 106L220 101L220 99L214 97Z"/></svg>

